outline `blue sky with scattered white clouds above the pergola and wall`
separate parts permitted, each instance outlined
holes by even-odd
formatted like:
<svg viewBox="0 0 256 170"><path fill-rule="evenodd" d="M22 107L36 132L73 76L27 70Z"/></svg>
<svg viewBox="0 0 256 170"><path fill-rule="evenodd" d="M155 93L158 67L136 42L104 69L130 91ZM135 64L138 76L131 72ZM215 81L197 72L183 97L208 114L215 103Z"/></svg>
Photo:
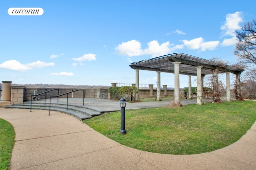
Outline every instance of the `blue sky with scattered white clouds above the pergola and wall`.
<svg viewBox="0 0 256 170"><path fill-rule="evenodd" d="M14 16L9 8L43 14ZM0 81L135 83L131 63L172 53L235 64L235 30L254 16L254 0L1 0ZM139 74L140 84L157 83L157 72ZM174 74L161 73L165 84L174 85ZM180 75L180 87L188 87L188 76Z"/></svg>

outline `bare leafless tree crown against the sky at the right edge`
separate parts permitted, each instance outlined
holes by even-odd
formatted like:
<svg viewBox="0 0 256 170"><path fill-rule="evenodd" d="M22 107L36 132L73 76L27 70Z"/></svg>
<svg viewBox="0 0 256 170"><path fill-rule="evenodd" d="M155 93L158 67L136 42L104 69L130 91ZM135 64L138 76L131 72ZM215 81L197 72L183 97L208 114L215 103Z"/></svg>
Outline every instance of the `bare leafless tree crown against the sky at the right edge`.
<svg viewBox="0 0 256 170"><path fill-rule="evenodd" d="M236 30L236 37L234 54L242 63L256 65L256 21L244 23L241 30Z"/></svg>

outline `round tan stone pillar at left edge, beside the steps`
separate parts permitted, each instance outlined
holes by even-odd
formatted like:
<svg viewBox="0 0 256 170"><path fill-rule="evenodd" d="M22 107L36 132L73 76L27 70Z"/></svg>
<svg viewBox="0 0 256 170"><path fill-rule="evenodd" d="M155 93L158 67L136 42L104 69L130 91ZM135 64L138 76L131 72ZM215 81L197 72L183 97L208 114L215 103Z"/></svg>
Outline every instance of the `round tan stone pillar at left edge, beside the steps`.
<svg viewBox="0 0 256 170"><path fill-rule="evenodd" d="M4 107L6 105L11 105L11 81L2 81L3 89L2 89L2 101L0 102L0 107Z"/></svg>

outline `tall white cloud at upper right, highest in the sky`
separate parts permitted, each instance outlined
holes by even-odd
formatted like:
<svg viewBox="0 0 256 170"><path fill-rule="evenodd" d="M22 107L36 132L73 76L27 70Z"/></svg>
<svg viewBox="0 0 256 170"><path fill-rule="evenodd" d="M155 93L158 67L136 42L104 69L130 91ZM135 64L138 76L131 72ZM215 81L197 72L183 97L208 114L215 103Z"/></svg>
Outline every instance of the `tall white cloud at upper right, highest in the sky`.
<svg viewBox="0 0 256 170"><path fill-rule="evenodd" d="M236 12L234 14L227 14L226 21L221 26L221 30L223 35L226 36L236 36L235 30L240 29L239 23L243 22L242 20L242 12Z"/></svg>

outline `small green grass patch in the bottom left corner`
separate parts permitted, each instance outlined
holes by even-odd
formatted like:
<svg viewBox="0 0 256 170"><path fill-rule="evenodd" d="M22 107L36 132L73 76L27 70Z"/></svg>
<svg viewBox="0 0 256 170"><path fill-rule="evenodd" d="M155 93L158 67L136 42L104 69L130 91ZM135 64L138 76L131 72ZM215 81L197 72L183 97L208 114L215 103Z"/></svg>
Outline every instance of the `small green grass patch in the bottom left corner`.
<svg viewBox="0 0 256 170"><path fill-rule="evenodd" d="M14 128L12 125L0 119L0 170L8 170L14 146Z"/></svg>

